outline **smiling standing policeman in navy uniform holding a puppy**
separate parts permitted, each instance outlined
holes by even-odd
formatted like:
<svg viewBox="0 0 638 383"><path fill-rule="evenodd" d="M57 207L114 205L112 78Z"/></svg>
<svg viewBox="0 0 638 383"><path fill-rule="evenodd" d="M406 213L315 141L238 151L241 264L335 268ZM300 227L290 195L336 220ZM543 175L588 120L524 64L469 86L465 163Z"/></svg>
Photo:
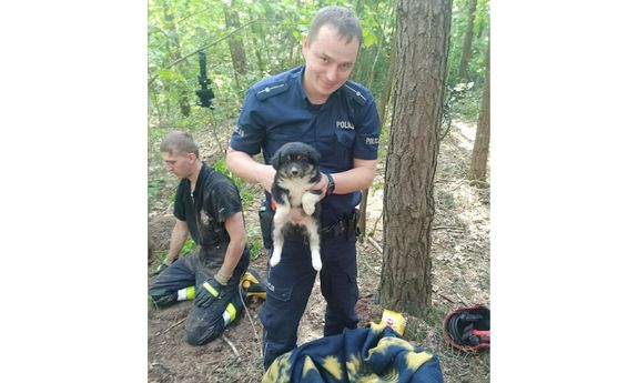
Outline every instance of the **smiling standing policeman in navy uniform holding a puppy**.
<svg viewBox="0 0 638 383"><path fill-rule="evenodd" d="M226 154L234 174L264 187L264 205L270 209L273 153L291 141L321 152L322 179L315 189L322 192L324 335L354 329L358 322L355 206L361 190L373 183L379 134L372 93L348 81L361 41L361 23L352 11L341 7L320 10L303 40L305 65L262 80L247 91ZM253 160L259 152L265 164ZM293 223L298 222L298 214L303 213L291 218ZM266 302L260 312L265 369L296 346L315 276L307 243L286 236L281 263L269 268Z"/></svg>

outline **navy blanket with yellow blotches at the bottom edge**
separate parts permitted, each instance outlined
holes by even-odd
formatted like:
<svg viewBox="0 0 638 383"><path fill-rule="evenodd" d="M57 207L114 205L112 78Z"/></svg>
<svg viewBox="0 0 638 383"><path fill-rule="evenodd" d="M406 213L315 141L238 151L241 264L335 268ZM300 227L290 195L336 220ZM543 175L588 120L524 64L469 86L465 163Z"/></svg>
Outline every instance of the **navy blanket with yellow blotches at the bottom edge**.
<svg viewBox="0 0 638 383"><path fill-rule="evenodd" d="M262 383L443 383L438 357L401 339L391 327L345 330L279 356Z"/></svg>

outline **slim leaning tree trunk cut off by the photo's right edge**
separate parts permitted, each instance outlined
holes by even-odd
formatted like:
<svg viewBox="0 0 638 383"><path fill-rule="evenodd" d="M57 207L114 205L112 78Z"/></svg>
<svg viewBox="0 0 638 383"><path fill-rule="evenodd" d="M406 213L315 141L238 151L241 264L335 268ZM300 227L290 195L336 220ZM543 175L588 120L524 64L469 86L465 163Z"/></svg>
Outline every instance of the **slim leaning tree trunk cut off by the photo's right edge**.
<svg viewBox="0 0 638 383"><path fill-rule="evenodd" d="M480 113L476 127L476 138L472 150L472 165L469 167L469 178L472 180L485 181L487 174L487 154L489 153L489 43L487 46L487 58L485 60L485 83L483 85L483 100L480 102Z"/></svg>

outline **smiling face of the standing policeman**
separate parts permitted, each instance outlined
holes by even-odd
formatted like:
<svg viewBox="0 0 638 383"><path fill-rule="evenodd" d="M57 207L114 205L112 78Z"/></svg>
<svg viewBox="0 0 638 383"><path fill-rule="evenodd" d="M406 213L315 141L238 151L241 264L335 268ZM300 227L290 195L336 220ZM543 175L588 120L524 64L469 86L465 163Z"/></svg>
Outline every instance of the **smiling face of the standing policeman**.
<svg viewBox="0 0 638 383"><path fill-rule="evenodd" d="M304 38L303 53L306 59L304 90L311 101L323 103L347 81L358 53L358 41L337 34L336 28L323 26L312 44Z"/></svg>

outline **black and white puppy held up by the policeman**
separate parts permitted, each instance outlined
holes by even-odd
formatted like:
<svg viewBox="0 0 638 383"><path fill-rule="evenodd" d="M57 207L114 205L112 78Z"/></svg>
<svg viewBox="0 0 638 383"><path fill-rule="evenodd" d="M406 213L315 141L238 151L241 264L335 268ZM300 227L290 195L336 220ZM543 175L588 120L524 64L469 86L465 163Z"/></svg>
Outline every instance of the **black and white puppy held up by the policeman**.
<svg viewBox="0 0 638 383"><path fill-rule="evenodd" d="M321 180L321 154L316 149L302 142L288 142L281 147L272 159L276 170L272 185L275 201L273 219L273 255L271 265L280 263L284 246L284 233L288 230L301 231L308 239L312 264L316 271L322 268L320 255L320 213L321 191L311 190ZM298 225L288 221L294 209L303 209Z"/></svg>

